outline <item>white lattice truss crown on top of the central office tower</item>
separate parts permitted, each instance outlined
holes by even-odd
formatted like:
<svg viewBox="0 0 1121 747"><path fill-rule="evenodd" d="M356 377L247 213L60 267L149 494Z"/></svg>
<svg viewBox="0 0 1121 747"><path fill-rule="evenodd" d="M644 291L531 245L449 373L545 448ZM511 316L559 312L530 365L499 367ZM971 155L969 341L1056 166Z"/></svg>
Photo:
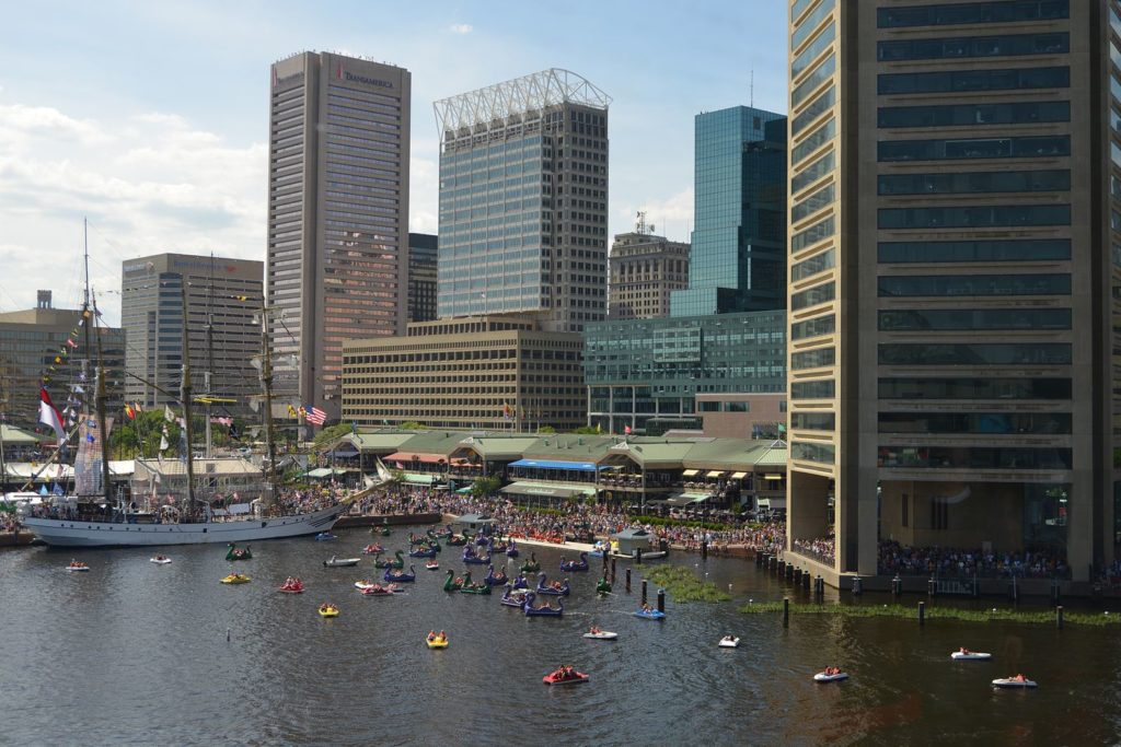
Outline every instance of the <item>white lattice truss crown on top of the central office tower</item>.
<svg viewBox="0 0 1121 747"><path fill-rule="evenodd" d="M461 93L433 103L441 139L450 130L487 124L509 118L536 119L541 110L559 104L581 104L606 109L611 96L592 85L587 78L572 71L550 67L489 85L485 88Z"/></svg>

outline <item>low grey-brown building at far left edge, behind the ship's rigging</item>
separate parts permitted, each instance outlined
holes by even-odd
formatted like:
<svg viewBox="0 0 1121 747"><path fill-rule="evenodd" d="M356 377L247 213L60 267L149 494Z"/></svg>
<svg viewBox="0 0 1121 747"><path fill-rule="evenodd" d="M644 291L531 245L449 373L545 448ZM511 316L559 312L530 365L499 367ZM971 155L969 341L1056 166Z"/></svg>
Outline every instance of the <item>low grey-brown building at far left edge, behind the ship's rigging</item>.
<svg viewBox="0 0 1121 747"><path fill-rule="evenodd" d="M43 431L38 422L44 376L49 377L45 385L56 408L63 410L74 386L80 385L85 393L75 396L86 412L93 412L96 390L90 384L99 361L105 368L109 414L119 415L123 407L124 333L98 326L93 319L92 314L86 319L90 323L86 345L84 323L80 326L82 309L56 309L49 290L38 291L34 309L0 314L0 412L8 423ZM49 440L54 440L54 432L49 428L46 431L50 433Z"/></svg>

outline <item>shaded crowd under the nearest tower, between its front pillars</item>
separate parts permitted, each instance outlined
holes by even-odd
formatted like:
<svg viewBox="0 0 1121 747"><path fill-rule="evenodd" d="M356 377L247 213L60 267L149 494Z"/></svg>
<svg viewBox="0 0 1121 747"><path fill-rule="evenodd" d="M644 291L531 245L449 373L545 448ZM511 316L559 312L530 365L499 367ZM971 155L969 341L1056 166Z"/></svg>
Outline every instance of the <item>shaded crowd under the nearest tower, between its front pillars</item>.
<svg viewBox="0 0 1121 747"><path fill-rule="evenodd" d="M960 548L910 548L880 542L881 576L937 576L947 578L1068 578L1066 558L1056 549L1021 552Z"/></svg>

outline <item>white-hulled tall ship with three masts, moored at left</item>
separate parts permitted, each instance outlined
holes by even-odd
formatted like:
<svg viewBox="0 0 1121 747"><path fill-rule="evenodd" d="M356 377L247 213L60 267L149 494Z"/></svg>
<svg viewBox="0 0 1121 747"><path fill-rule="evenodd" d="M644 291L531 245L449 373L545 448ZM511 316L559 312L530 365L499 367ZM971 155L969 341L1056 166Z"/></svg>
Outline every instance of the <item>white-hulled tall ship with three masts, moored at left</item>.
<svg viewBox="0 0 1121 747"><path fill-rule="evenodd" d="M91 308L86 296L86 308ZM83 414L78 420L78 440L75 457L75 493L55 496L53 504L40 507L24 517L24 525L40 540L53 547L157 547L172 544L229 544L277 540L330 530L351 503L376 489L382 480L369 482L361 491L326 506L299 511L298 506L285 507L276 495L276 449L272 424L272 365L267 335L267 309L261 304L261 384L263 390L263 429L267 455L261 469L265 486L258 499L243 504L239 514L214 510L211 503L196 495L192 423L191 354L187 336L187 289L183 287L183 376L178 399L183 408L180 427L185 439L180 458L185 470L183 495L169 496L168 503L155 512L139 512L135 504L126 505L123 498L111 493L109 474L109 429L112 420L105 414L105 375L99 360L95 385L95 413ZM96 311L91 319L96 319ZM89 325L86 325L89 327ZM100 338L99 338L100 342ZM67 438L63 419L44 389L40 392L40 420L52 426L58 436L58 454ZM106 427L108 426L108 427ZM165 431L166 433L166 431ZM92 487L92 489L91 489ZM174 502L174 503L173 503ZM295 510L293 510L295 508Z"/></svg>

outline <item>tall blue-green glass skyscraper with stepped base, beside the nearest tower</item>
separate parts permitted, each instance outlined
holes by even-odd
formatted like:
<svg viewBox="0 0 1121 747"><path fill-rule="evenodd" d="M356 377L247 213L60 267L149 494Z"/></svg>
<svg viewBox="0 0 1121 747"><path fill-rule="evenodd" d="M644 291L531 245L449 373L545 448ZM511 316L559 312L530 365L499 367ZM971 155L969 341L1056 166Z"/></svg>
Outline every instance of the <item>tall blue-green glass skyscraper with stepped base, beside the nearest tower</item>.
<svg viewBox="0 0 1121 747"><path fill-rule="evenodd" d="M750 106L696 115L688 290L675 317L781 309L786 118Z"/></svg>

